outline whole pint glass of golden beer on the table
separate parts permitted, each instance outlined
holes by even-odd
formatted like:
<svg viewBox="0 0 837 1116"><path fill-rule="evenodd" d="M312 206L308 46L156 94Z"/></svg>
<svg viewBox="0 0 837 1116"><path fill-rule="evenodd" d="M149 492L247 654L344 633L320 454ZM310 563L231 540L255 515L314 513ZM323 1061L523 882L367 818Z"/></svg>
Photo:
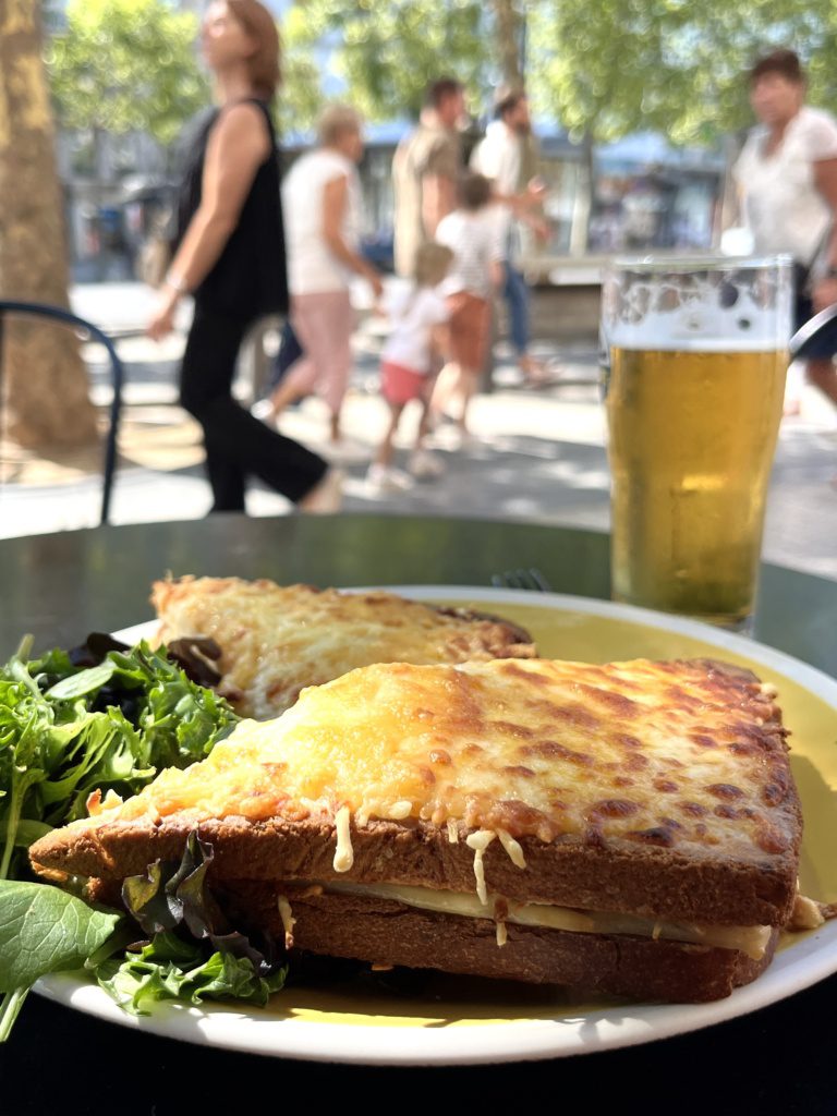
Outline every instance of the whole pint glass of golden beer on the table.
<svg viewBox="0 0 837 1116"><path fill-rule="evenodd" d="M607 269L616 600L748 626L782 413L791 275L788 257L661 257Z"/></svg>

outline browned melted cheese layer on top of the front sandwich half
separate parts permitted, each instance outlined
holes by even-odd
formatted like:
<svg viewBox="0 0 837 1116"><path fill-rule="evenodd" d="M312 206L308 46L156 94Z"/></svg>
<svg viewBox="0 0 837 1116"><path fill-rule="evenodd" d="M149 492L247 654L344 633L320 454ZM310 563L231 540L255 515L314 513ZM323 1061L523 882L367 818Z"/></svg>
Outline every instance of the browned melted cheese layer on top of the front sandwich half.
<svg viewBox="0 0 837 1116"><path fill-rule="evenodd" d="M793 801L779 712L752 675L703 661L498 660L353 671L304 691L277 721L242 722L208 759L161 772L124 806L94 810L183 811L191 824L345 808L356 824L454 820L478 854L498 834L516 864L521 837L575 835L763 865L792 848ZM347 828L338 844L346 863Z"/></svg>

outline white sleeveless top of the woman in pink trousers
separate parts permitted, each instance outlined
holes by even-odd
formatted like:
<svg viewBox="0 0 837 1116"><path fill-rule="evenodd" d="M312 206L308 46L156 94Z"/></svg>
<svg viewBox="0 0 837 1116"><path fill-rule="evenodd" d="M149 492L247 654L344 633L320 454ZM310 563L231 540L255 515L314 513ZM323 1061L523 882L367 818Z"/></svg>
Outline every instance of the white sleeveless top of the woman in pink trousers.
<svg viewBox="0 0 837 1116"><path fill-rule="evenodd" d="M360 181L346 155L318 147L301 155L282 183L282 213L288 252L288 287L291 295L344 290L349 272L335 258L323 235L323 201L326 185L346 180L343 239L357 249L360 240Z"/></svg>

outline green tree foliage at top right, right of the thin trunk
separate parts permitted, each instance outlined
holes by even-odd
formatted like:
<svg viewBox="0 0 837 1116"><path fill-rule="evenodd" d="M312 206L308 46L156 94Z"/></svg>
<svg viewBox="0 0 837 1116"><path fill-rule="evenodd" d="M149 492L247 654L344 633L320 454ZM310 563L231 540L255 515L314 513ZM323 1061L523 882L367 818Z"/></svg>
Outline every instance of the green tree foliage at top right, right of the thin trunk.
<svg viewBox="0 0 837 1116"><path fill-rule="evenodd" d="M537 107L579 137L701 143L747 127L747 71L779 46L810 64L810 102L837 107L834 0L529 0L528 28Z"/></svg>

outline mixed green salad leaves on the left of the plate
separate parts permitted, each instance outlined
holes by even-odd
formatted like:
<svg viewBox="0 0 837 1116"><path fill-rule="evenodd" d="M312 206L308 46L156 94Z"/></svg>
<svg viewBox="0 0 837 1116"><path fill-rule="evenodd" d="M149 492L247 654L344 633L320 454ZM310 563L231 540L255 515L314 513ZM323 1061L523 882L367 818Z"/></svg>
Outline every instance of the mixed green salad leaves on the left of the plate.
<svg viewBox="0 0 837 1116"><path fill-rule="evenodd" d="M263 1002L282 980L275 965L217 949L206 924L205 941L186 941L176 921L125 960L126 943L143 931L122 912L35 882L27 855L51 828L86 816L94 791L127 797L161 768L203 759L235 713L145 643L124 648L92 636L74 653L30 654L27 638L0 668L0 1041L39 977L84 964L133 1010L162 994L238 995L248 980L248 995ZM202 876L192 883L200 893Z"/></svg>

